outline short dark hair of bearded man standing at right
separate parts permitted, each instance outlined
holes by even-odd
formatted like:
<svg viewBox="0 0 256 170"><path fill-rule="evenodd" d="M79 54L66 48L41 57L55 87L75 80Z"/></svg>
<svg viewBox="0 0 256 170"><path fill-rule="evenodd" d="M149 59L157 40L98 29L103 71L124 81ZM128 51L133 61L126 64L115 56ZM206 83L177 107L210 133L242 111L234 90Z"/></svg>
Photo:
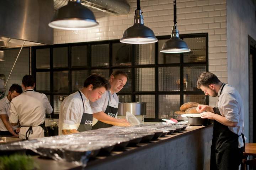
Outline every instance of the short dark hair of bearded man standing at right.
<svg viewBox="0 0 256 170"><path fill-rule="evenodd" d="M201 86L208 87L210 84L218 84L220 82L221 81L215 74L210 72L204 72L199 76L197 80L197 88L200 89Z"/></svg>

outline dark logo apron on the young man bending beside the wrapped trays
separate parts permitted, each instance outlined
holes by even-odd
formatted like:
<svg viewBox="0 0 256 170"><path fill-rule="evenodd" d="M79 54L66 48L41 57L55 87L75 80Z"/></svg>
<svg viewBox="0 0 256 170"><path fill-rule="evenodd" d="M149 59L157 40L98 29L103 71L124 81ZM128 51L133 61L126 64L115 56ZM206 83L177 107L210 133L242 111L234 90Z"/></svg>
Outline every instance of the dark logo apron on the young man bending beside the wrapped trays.
<svg viewBox="0 0 256 170"><path fill-rule="evenodd" d="M78 91L80 96L81 96L81 99L82 99L82 94L80 91ZM83 107L84 107L84 100L82 99L82 103L83 103ZM85 112L85 109L84 109L84 112ZM82 114L82 119L81 119L81 122L80 122L80 125L78 127L78 131L79 132L84 132L84 131L87 131L87 130L91 130L92 129L92 114L89 114L89 113L84 113Z"/></svg>

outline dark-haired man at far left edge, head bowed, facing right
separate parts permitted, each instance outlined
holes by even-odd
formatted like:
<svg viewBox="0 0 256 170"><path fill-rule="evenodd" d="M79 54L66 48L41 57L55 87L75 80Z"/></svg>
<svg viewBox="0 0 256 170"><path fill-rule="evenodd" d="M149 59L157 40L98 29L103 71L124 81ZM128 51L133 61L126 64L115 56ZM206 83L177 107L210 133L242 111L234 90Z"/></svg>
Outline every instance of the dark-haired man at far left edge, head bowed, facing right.
<svg viewBox="0 0 256 170"><path fill-rule="evenodd" d="M11 126L9 122L10 103L14 97L22 93L22 88L18 84L12 84L8 95L0 100L0 135L13 135L18 137L16 133L20 131L19 125Z"/></svg>

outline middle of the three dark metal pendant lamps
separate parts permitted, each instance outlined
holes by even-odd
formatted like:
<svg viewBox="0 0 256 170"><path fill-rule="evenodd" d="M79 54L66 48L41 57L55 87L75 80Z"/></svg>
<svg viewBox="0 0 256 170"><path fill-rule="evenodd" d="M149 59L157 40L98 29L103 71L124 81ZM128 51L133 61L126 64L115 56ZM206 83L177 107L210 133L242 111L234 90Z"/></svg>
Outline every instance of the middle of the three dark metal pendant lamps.
<svg viewBox="0 0 256 170"><path fill-rule="evenodd" d="M144 26L143 15L140 9L140 0L137 0L137 10L135 10L134 24L124 31L120 42L127 44L149 44L157 42L153 30Z"/></svg>

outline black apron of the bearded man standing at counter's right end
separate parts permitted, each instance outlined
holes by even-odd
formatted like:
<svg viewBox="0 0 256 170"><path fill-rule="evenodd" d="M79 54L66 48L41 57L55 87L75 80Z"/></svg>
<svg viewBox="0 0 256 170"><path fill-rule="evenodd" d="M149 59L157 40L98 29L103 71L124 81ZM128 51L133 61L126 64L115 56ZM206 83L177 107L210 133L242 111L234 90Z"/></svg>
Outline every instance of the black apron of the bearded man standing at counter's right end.
<svg viewBox="0 0 256 170"><path fill-rule="evenodd" d="M222 93L223 87L220 90ZM218 106L213 108L215 114L220 114ZM238 148L238 138L240 135L230 131L228 126L213 120L213 139L210 155L210 170L238 170L242 162L244 147Z"/></svg>

